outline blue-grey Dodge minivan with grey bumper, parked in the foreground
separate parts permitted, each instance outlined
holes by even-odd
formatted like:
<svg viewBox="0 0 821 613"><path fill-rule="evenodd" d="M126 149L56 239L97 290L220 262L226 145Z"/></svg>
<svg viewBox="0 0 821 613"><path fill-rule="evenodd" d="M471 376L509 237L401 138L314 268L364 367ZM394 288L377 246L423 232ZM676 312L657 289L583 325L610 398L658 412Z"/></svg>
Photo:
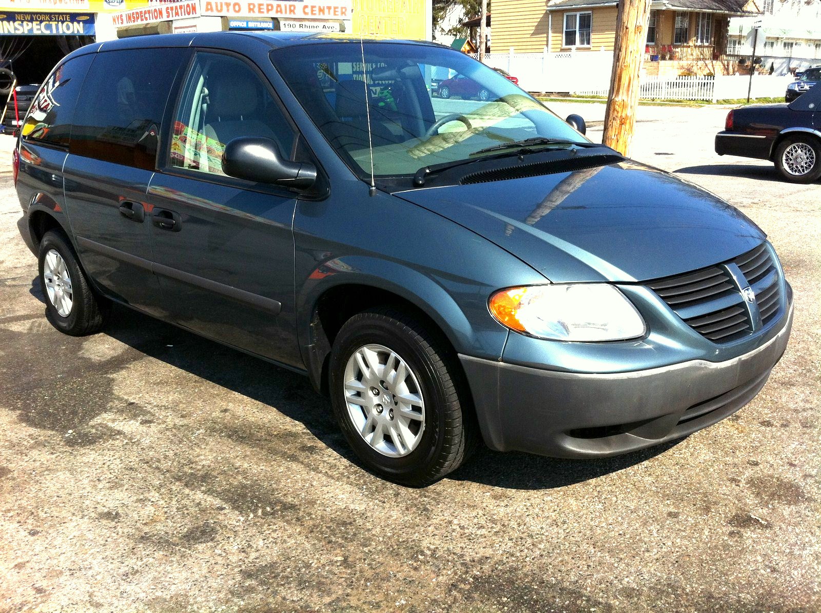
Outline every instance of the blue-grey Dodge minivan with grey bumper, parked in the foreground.
<svg viewBox="0 0 821 613"><path fill-rule="evenodd" d="M792 290L750 219L584 133L432 43L97 43L25 118L20 226L58 330L124 304L305 373L384 478L597 458L749 402Z"/></svg>

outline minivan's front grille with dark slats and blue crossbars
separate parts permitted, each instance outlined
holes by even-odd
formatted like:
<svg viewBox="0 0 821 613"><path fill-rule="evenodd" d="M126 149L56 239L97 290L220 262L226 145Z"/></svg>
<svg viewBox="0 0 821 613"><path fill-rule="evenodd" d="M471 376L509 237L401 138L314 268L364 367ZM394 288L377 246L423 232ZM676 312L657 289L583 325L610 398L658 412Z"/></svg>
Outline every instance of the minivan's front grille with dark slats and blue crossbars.
<svg viewBox="0 0 821 613"><path fill-rule="evenodd" d="M729 262L649 281L647 286L695 332L715 343L753 333L759 327L756 313L760 327L766 327L781 311L778 270L766 243ZM746 286L755 294L750 307L741 294Z"/></svg>

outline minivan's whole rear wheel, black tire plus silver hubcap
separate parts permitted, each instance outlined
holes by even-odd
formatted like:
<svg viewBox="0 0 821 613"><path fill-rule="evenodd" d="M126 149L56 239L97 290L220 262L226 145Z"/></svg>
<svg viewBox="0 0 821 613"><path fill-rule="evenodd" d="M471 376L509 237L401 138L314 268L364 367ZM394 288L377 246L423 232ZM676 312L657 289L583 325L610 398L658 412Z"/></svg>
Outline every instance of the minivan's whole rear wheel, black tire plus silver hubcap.
<svg viewBox="0 0 821 613"><path fill-rule="evenodd" d="M39 277L46 316L57 330L71 336L99 332L108 304L94 295L74 249L60 231L48 231L40 240Z"/></svg>

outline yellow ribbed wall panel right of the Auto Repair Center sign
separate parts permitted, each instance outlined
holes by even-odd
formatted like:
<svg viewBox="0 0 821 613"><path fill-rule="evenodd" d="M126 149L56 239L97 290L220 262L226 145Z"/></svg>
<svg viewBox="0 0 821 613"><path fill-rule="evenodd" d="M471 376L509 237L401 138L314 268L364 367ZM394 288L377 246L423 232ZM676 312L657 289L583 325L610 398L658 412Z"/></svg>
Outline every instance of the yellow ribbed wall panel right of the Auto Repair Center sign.
<svg viewBox="0 0 821 613"><path fill-rule="evenodd" d="M354 34L424 40L428 36L425 0L353 0Z"/></svg>

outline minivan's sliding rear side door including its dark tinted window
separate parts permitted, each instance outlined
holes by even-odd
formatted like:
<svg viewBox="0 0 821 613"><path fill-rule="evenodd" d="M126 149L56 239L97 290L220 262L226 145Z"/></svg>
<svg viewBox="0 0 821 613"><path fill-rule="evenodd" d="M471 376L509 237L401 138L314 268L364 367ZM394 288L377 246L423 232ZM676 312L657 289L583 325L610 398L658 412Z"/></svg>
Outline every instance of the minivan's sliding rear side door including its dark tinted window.
<svg viewBox="0 0 821 613"><path fill-rule="evenodd" d="M145 193L186 55L186 48L94 54L64 167L66 208L86 272L117 300L159 317Z"/></svg>

